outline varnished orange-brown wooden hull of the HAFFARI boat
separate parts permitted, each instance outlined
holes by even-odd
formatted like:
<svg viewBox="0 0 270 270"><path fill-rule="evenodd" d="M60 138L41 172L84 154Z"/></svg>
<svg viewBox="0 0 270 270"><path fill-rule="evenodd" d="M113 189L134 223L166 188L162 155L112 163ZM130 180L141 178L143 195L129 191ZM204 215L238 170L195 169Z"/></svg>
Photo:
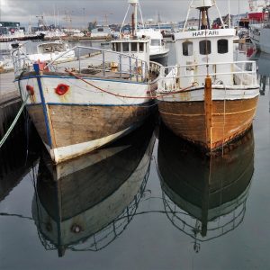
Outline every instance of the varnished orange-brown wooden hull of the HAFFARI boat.
<svg viewBox="0 0 270 270"><path fill-rule="evenodd" d="M215 89L212 91L215 93ZM177 136L200 146L206 152L221 148L230 140L244 134L252 125L258 94L251 94L250 97L243 99L213 99L210 136L207 131L209 115L207 116L204 101L199 98L188 100L188 96L188 93L180 93L159 101L158 110L167 128Z"/></svg>

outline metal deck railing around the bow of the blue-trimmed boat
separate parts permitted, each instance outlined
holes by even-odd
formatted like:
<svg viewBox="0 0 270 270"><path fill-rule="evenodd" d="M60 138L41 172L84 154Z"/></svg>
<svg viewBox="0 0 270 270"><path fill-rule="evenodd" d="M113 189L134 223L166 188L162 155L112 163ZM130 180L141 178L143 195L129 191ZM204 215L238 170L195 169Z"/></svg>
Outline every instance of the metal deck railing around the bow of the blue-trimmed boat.
<svg viewBox="0 0 270 270"><path fill-rule="evenodd" d="M73 56L70 53L74 52ZM13 52L15 76L23 70L33 71L33 61L22 49ZM44 64L44 63L43 63ZM144 82L148 80L148 62L109 49L76 46L60 53L45 63L44 72L65 73L67 70L81 75L115 77Z"/></svg>

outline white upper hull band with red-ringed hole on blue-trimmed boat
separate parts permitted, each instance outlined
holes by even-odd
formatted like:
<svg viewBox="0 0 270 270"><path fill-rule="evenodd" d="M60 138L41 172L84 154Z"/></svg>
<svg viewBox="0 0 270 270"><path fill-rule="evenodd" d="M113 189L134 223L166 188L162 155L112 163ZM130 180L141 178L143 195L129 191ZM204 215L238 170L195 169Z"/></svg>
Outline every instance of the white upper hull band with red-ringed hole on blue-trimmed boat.
<svg viewBox="0 0 270 270"><path fill-rule="evenodd" d="M106 94L92 85L87 85L82 80L70 76L41 76L41 83L45 103L47 104L85 104L85 105L139 105L149 101L149 85L147 83L127 82L123 80L111 80L100 78L85 78L90 84L110 91L112 94ZM55 88L59 84L69 85L67 94L58 95ZM26 85L34 87L35 101L28 100L27 104L41 103L39 85L36 77L30 77L21 80L23 91L23 100L25 100L27 91ZM113 95L115 94L115 95ZM124 98L116 96L133 96L134 98ZM136 98L139 97L139 98ZM145 98L141 98L145 97Z"/></svg>

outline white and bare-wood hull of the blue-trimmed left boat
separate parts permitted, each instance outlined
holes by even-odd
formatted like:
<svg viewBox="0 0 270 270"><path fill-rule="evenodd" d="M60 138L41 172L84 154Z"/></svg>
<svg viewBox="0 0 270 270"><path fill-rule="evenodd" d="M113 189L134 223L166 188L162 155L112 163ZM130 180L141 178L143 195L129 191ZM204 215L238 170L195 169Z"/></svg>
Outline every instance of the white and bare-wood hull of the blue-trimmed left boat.
<svg viewBox="0 0 270 270"><path fill-rule="evenodd" d="M148 84L86 80L114 94L148 95ZM58 95L55 89L63 82L69 86L67 94ZM59 76L25 76L19 83L23 100L27 85L34 89L27 102L27 110L56 163L120 138L137 128L153 108L148 98L120 98L74 77L67 76L63 80Z"/></svg>

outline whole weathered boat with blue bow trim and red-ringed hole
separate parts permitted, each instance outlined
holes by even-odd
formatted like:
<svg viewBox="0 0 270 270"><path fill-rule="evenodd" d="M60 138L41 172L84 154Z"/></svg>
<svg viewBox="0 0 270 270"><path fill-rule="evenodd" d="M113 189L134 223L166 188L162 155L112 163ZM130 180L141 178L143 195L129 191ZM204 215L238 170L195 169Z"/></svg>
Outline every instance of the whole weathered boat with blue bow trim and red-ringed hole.
<svg viewBox="0 0 270 270"><path fill-rule="evenodd" d="M137 11L137 4L134 4ZM76 61L59 63L74 50ZM13 52L15 84L52 159L99 148L138 127L151 112L159 66L148 39L116 40L114 50L76 46L49 63Z"/></svg>

